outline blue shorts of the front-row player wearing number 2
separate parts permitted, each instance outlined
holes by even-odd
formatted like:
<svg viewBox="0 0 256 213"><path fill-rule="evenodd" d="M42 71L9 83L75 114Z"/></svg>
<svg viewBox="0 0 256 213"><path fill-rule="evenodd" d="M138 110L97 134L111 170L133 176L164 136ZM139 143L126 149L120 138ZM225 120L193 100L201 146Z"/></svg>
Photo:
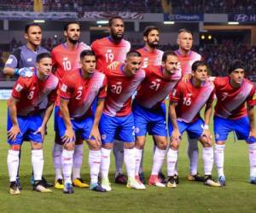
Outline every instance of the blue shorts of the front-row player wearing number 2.
<svg viewBox="0 0 256 213"><path fill-rule="evenodd" d="M60 136L65 135L66 125L64 123L63 118L57 115L57 128L59 131ZM81 135L82 140L89 140L90 130L92 128L94 122L93 117L81 118L81 119L71 119L71 124L73 131L75 132L76 137Z"/></svg>

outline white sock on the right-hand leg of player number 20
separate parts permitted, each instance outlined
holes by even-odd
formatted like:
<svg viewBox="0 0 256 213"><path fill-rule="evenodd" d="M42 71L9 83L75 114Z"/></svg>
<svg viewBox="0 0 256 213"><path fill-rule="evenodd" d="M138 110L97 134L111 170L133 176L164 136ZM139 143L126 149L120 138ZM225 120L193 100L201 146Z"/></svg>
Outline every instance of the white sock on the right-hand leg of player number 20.
<svg viewBox="0 0 256 213"><path fill-rule="evenodd" d="M135 150L134 148L124 148L124 161L127 171L128 180L135 178Z"/></svg>

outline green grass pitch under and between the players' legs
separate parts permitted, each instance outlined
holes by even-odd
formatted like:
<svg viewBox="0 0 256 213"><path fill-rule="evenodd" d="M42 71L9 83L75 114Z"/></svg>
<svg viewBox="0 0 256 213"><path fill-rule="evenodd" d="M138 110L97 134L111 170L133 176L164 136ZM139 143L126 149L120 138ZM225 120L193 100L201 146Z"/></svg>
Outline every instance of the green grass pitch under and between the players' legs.
<svg viewBox="0 0 256 213"><path fill-rule="evenodd" d="M178 156L180 184L176 189L148 187L145 191L127 189L112 184L109 193L90 192L89 189L74 188L75 193L63 194L53 189L53 193L32 191L29 178L32 172L30 145L22 147L20 180L23 190L18 196L9 194L6 143L6 101L0 101L0 212L255 212L256 186L248 183L247 146L243 141L234 142L233 136L225 149L226 187L205 187L198 182L189 182L189 162L186 154L187 141L183 135ZM211 124L212 127L212 124ZM53 119L48 125L49 134L44 141L44 176L54 182L54 168L51 150L54 142ZM145 148L144 171L148 178L152 166L152 140L148 137ZM82 177L89 182L88 148L85 146ZM110 180L113 181L113 158ZM164 164L166 172L166 164ZM199 172L203 174L200 146ZM215 167L213 176L216 178Z"/></svg>

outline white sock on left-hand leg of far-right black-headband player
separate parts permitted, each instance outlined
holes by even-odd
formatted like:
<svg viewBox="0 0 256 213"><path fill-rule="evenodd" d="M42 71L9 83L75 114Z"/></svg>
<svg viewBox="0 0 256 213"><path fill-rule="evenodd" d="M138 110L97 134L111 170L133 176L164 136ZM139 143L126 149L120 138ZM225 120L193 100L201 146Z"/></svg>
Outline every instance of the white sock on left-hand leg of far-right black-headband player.
<svg viewBox="0 0 256 213"><path fill-rule="evenodd" d="M215 144L214 161L218 171L218 177L224 176L224 148L225 145Z"/></svg>

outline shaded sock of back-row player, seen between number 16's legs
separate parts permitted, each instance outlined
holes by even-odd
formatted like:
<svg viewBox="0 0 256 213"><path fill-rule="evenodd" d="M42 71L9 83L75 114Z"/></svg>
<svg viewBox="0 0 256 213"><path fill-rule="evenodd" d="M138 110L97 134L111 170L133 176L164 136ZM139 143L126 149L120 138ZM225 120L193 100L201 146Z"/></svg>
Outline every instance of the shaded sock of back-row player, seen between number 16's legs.
<svg viewBox="0 0 256 213"><path fill-rule="evenodd" d="M197 164L198 164L198 139L191 139L188 137L189 147L189 170L192 176L197 174Z"/></svg>

